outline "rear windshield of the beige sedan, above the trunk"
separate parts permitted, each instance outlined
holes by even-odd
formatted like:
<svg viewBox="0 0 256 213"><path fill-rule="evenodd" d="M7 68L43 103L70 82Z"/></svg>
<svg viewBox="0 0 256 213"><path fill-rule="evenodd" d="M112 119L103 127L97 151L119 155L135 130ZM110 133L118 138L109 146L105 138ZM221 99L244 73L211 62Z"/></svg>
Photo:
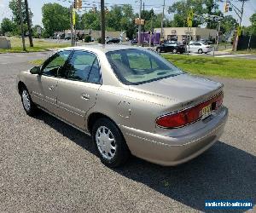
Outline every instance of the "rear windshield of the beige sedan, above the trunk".
<svg viewBox="0 0 256 213"><path fill-rule="evenodd" d="M121 49L106 53L113 72L125 84L147 83L183 73L160 55L142 49Z"/></svg>

